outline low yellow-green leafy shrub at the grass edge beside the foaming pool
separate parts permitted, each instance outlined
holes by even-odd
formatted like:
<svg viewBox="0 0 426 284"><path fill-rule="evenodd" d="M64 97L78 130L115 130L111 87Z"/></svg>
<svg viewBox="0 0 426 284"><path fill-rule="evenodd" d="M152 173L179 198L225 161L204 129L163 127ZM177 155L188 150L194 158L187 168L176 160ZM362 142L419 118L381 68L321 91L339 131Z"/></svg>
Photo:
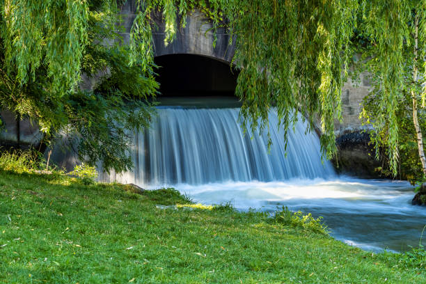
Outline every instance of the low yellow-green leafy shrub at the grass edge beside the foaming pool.
<svg viewBox="0 0 426 284"><path fill-rule="evenodd" d="M312 230L313 232L319 232L324 235L329 233L327 227L322 223L322 216L315 219L310 213L303 215L301 211L292 212L287 206L283 206L283 210L275 212L274 221L297 228Z"/></svg>

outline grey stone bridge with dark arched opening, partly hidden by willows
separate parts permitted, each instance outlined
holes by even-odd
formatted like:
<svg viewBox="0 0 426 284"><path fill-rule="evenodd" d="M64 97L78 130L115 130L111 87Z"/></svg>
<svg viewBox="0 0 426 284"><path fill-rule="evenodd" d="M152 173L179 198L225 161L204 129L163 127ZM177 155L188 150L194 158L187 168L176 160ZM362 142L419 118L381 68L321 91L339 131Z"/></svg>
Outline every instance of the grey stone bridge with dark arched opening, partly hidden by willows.
<svg viewBox="0 0 426 284"><path fill-rule="evenodd" d="M129 32L136 17L136 0L128 0L125 5L121 7L122 25L125 32L123 33L123 39L125 42L129 42ZM214 33L212 30L212 23L207 19L203 13L195 10L187 17L187 25L182 28L179 27L176 38L169 45L164 45L164 22L161 19L161 13L153 15L155 22L155 29L153 31L153 42L155 49L155 58L163 58L162 63L168 63L173 65L173 55L187 55L203 57L204 63L201 61L194 61L194 64L203 64L203 68L200 68L196 72L203 72L205 77L210 79L198 80L191 82L196 88L194 91L198 91L197 88L202 88L201 85L209 85L211 90L214 91L230 91L235 87L235 81L237 74L229 72L228 67L232 56L235 54L235 44L230 42L230 36L226 32L226 29L221 27L216 31L216 45L214 42ZM178 18L178 21L180 19ZM159 60L159 59L158 59ZM206 63L207 61L212 61ZM219 64L220 63L220 64ZM177 64L175 64L177 65ZM194 69L194 66L187 66L187 69L183 72L176 72L176 68L182 68L182 65L174 66L169 73L180 74L177 80L185 79L188 77L185 72L190 72ZM220 66L219 66L220 65ZM226 69L228 71L226 71ZM194 72L194 71L193 71ZM160 74L161 75L161 74ZM161 76L159 77L161 80ZM86 79L86 86L93 86L95 84L94 79ZM191 84L187 84L188 86ZM197 86L198 84L198 86ZM161 84L167 86L167 84ZM175 88L174 84L169 84L171 88ZM361 111L360 103L363 97L370 91L370 83L365 76L361 79L361 84L354 86L352 82L347 82L342 88L342 123L336 122L336 131L338 134L344 132L351 132L354 130L362 129L360 121L358 120L359 113ZM1 116L6 120L6 132L0 132L0 145L5 145L4 141L10 143L17 143L18 139L21 143L31 144L34 141L40 139L36 127L29 124L28 120L22 120L19 123L13 115L8 111L1 111Z"/></svg>

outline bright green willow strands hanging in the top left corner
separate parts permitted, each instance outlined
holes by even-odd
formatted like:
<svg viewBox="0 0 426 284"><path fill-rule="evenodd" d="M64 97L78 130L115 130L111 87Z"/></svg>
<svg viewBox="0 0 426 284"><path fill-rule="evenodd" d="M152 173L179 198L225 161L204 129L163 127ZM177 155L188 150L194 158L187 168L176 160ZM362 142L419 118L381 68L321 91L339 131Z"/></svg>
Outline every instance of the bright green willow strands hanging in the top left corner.
<svg viewBox="0 0 426 284"><path fill-rule="evenodd" d="M1 39L8 72L16 70L26 84L47 63L52 93L63 95L80 80L81 56L87 44L86 1L1 1Z"/></svg>

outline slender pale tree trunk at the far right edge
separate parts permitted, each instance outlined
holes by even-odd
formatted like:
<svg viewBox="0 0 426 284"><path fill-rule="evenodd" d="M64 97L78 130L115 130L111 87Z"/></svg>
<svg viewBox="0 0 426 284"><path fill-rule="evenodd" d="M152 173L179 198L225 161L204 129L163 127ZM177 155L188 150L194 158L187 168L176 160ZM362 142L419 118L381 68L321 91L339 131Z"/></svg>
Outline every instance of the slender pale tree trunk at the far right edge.
<svg viewBox="0 0 426 284"><path fill-rule="evenodd" d="M414 32L414 60L413 60L413 84L417 82L417 49L418 49L418 15L416 15L414 19L415 24L415 32ZM413 123L416 128L417 134L417 147L418 147L418 155L420 157L420 161L422 161L423 166L423 175L426 177L426 158L425 152L423 151L423 136L420 130L420 125L418 124L417 118L417 96L414 87L411 88L411 97L413 99Z"/></svg>

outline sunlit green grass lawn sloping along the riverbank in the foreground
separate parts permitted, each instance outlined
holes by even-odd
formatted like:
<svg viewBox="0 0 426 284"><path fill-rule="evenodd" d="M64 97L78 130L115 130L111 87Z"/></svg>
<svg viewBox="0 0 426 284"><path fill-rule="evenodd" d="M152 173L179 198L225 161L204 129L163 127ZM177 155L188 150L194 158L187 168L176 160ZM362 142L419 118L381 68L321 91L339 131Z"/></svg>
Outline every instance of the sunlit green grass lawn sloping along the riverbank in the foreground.
<svg viewBox="0 0 426 284"><path fill-rule="evenodd" d="M188 203L172 189L0 171L0 283L426 283L398 255Z"/></svg>

